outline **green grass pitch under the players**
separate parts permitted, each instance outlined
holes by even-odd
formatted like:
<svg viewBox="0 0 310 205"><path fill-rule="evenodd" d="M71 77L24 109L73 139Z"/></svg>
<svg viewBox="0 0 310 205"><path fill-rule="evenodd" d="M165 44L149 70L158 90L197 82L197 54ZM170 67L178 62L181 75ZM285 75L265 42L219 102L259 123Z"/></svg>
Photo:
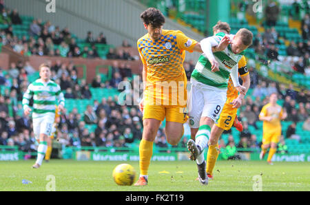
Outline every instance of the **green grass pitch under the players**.
<svg viewBox="0 0 310 205"><path fill-rule="evenodd" d="M262 191L310 191L309 162L275 162L271 166L267 162L218 161L208 186L195 180L195 162L151 162L149 184L144 187L114 183L112 171L121 163L134 166L137 180L138 162L50 160L40 169L32 169L34 160L1 161L0 191L46 191L49 175L54 176L56 191L253 191L259 176ZM32 184L22 184L23 179Z"/></svg>

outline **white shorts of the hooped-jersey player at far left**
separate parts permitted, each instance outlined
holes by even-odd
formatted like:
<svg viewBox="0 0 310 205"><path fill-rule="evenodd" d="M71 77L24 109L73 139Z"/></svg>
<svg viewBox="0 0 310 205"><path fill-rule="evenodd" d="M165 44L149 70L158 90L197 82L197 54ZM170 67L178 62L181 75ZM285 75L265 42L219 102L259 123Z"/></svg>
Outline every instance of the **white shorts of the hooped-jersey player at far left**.
<svg viewBox="0 0 310 205"><path fill-rule="evenodd" d="M55 114L54 113L46 113L42 116L33 118L33 132L36 140L39 140L40 134L45 134L50 136L52 133L52 126L54 124Z"/></svg>

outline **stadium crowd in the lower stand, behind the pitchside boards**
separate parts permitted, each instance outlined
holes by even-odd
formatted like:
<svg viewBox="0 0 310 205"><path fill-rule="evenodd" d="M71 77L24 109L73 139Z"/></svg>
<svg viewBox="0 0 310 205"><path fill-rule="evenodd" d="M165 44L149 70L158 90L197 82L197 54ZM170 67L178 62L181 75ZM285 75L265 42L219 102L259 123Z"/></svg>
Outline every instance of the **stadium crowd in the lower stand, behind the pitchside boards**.
<svg viewBox="0 0 310 205"><path fill-rule="evenodd" d="M114 74L119 74L119 68L116 65L115 63L112 70ZM96 76L94 81L87 85L85 80L79 80L76 77L76 69L73 63L66 65L61 61L55 61L51 67L53 79L61 85L61 89L65 92L65 98L91 99L90 87L117 86L115 82L119 83L127 77L119 74L119 80L113 77L110 81L101 82L99 76ZM192 69L194 69L192 62L185 63L185 69L187 69L187 74L191 73ZM23 108L19 104L28 83L30 83L28 82L26 70L34 70L29 62L26 62L25 65L22 63L14 65L13 63L6 76L3 76L3 70L0 69L0 85L8 87L5 94L0 96L0 144L17 145L22 151L34 151L32 120L23 115ZM258 142L257 136L249 131L248 125L257 128L256 122L258 121L260 109L268 102L268 96L273 92L278 93L279 98L284 100L283 107L290 113L287 121L293 122L292 127L296 126L297 122L304 122L304 130L309 130L309 90L297 92L292 87L285 88L283 84L267 82L267 80L258 76L253 67L250 67L249 71L253 92L245 98L239 116L244 129L240 133L240 142L238 144L231 142L231 138L229 138L230 140L226 146L238 148L259 147L260 142ZM12 79L12 82L10 79ZM88 105L83 114L79 113L76 108L72 109L70 113L61 114L57 131L57 137L61 139L60 142L65 146L74 147L127 147L128 143L140 140L143 125L141 111L136 106L121 106L116 102L117 98L111 96L107 99L103 98L101 102L94 100L94 105ZM90 133L89 129L86 128L87 125L96 125L95 131ZM188 125L185 126L188 127ZM189 136L188 131L187 136ZM285 136L285 138L291 137L296 138L293 130L288 131L287 136ZM184 137L178 147L185 147L186 142L187 137ZM155 143L158 147L168 147L164 128L158 131Z"/></svg>

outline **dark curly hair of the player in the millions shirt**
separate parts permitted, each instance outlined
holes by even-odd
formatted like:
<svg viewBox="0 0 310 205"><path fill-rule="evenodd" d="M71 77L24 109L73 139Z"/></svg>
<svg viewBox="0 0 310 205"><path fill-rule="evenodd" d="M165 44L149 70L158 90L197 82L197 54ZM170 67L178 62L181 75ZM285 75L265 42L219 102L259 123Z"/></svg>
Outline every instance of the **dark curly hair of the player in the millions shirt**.
<svg viewBox="0 0 310 205"><path fill-rule="evenodd" d="M165 23L163 13L156 8L148 8L140 15L143 23L152 25L154 28L161 27Z"/></svg>

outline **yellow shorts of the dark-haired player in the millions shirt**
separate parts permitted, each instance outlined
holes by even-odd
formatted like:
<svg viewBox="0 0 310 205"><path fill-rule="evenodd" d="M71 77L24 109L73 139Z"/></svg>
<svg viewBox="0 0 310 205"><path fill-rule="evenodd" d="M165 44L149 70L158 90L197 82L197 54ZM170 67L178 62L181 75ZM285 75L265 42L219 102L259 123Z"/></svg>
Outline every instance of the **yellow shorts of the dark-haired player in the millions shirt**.
<svg viewBox="0 0 310 205"><path fill-rule="evenodd" d="M185 123L187 121L187 108L178 105L144 105L143 120L156 119L169 122Z"/></svg>

